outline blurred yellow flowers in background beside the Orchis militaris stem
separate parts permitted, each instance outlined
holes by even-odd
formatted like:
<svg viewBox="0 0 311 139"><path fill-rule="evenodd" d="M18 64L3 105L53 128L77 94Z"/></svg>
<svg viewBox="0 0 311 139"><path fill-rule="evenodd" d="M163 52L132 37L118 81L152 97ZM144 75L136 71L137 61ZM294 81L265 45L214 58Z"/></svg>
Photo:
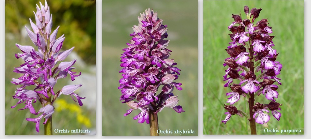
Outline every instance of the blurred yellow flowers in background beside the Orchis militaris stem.
<svg viewBox="0 0 311 139"><path fill-rule="evenodd" d="M77 114L77 121L79 123L83 124L86 127L91 127L90 118L83 115L81 107L75 104L69 104L66 102L66 100L59 99L58 101L55 101L55 110L56 111L69 110L71 113Z"/></svg>

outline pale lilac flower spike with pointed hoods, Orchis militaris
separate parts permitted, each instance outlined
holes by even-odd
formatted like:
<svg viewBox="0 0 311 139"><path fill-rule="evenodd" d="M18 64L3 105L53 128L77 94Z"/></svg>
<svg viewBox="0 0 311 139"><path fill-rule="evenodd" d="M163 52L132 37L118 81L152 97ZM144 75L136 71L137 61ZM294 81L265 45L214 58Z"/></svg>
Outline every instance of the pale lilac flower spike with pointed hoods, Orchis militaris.
<svg viewBox="0 0 311 139"><path fill-rule="evenodd" d="M50 14L50 7L45 1L44 5L40 2L40 7L37 5L36 8L37 12L34 12L36 24L29 19L33 31L30 31L26 26L25 28L30 39L35 46L37 46L38 51L32 46L16 44L16 46L21 49L22 53L15 54L15 57L17 59L23 59L25 63L15 68L13 71L21 73L22 76L17 79L12 78L13 81L11 82L19 86L13 98L19 99L19 101L11 108L15 108L17 104L24 103L25 107L22 109L29 109L30 113L35 115L42 113L38 118L26 118L27 121L36 123L36 131L39 132L40 120L45 118L43 123L45 124L54 113L53 102L57 97L61 94L71 95L74 101L76 101L75 98L77 99L76 102L78 102L80 106L82 106L81 100L85 99L85 97L81 98L79 95L73 93L82 86L81 84L64 86L56 93L53 90L58 79L65 78L67 74L69 74L73 81L75 77L81 75L81 72L76 74L76 72L72 71L72 69L74 69L72 66L76 60L61 62L56 66L58 61L63 61L67 58L74 47L60 52L65 37L62 35L56 39L59 26L56 30L51 32L52 14ZM52 95L54 95L54 97L52 97ZM42 105L42 108L38 112L36 112L32 106L37 100L39 100Z"/></svg>

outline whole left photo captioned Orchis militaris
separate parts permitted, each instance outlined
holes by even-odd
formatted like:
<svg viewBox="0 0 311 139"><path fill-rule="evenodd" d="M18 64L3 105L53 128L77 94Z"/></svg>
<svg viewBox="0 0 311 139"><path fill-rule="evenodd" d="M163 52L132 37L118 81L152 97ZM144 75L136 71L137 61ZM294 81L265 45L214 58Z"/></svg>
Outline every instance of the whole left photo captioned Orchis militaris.
<svg viewBox="0 0 311 139"><path fill-rule="evenodd" d="M95 0L5 1L5 135L96 135L95 52Z"/></svg>

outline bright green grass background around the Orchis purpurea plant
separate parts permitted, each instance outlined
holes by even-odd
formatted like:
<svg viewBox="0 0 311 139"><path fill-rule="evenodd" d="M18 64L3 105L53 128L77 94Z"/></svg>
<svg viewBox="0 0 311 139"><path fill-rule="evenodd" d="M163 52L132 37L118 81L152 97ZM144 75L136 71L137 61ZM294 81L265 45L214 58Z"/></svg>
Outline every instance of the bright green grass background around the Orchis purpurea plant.
<svg viewBox="0 0 311 139"><path fill-rule="evenodd" d="M262 8L260 21L267 18L275 35L273 49L277 50L278 58L283 64L281 74L282 86L277 90L276 101L281 106L281 119L277 121L269 113L271 119L267 124L256 124L257 134L281 134L281 129L300 129L304 134L304 1L204 1L203 2L203 134L250 134L249 122L246 118L233 115L226 123L226 110L223 108L227 98L224 88L224 70L222 63L229 55L225 49L231 42L227 27L234 21L232 14L241 12L246 18L244 6ZM263 95L255 102L267 104ZM247 107L245 107L247 105ZM235 103L239 110L248 112L248 103L242 97ZM245 109L247 108L247 109ZM279 133L266 133L264 129L279 129ZM283 133L288 134L288 133Z"/></svg>

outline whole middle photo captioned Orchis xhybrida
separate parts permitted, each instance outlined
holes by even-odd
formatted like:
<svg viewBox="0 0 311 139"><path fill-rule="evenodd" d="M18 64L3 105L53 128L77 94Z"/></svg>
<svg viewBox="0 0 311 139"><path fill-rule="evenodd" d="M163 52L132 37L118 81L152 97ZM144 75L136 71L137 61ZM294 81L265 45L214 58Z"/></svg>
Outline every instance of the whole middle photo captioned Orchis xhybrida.
<svg viewBox="0 0 311 139"><path fill-rule="evenodd" d="M198 1L106 0L102 12L103 136L197 136Z"/></svg>

